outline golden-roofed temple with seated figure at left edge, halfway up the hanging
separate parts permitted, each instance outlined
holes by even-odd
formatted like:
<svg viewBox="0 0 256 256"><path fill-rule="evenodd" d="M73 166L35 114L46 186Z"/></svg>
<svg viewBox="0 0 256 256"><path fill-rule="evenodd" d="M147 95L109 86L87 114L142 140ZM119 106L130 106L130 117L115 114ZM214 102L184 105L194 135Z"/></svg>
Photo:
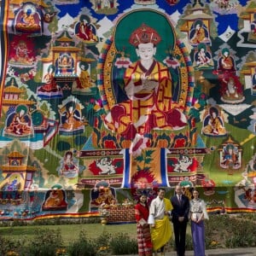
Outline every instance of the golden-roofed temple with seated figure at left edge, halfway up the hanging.
<svg viewBox="0 0 256 256"><path fill-rule="evenodd" d="M6 118L3 120L1 141L7 143L9 139L17 137L22 140L37 137L38 142L34 146L44 147L55 135L58 124L55 120L45 116L39 105L35 108L34 97L24 99L26 93L26 87L19 87L15 78L9 79L3 89L2 111L6 114Z"/></svg>

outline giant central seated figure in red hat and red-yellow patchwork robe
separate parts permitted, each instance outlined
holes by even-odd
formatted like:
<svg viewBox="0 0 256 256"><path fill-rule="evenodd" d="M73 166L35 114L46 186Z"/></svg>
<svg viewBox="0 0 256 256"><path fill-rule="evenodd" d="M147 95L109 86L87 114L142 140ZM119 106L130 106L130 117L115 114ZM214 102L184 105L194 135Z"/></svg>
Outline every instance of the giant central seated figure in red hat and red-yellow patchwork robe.
<svg viewBox="0 0 256 256"><path fill-rule="evenodd" d="M154 58L160 35L145 24L131 33L130 44L140 57L125 70L125 93L128 100L110 109L106 127L133 141L136 134L154 129L179 130L187 119L177 102L172 101L172 78L166 67ZM137 144L137 143L135 143Z"/></svg>

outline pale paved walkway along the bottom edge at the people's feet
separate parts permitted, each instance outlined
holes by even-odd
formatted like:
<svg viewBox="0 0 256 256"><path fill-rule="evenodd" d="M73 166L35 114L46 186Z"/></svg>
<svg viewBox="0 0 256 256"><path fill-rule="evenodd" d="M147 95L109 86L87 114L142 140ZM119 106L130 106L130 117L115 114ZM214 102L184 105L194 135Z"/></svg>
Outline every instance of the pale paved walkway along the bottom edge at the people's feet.
<svg viewBox="0 0 256 256"><path fill-rule="evenodd" d="M136 254L132 254L137 256ZM256 247L245 247L245 248L236 248L236 249L214 249L207 250L206 256L256 256ZM131 255L123 255L123 256L131 256ZM176 256L176 252L168 252L165 256ZM187 251L186 256L194 256L193 251Z"/></svg>

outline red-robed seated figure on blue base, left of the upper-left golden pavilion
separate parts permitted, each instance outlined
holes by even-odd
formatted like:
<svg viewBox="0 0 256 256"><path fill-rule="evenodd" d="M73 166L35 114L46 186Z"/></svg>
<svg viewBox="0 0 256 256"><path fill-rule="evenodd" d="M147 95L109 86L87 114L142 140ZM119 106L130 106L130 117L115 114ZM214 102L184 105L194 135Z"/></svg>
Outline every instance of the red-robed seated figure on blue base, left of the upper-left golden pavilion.
<svg viewBox="0 0 256 256"><path fill-rule="evenodd" d="M50 65L48 67L47 73L44 75L45 84L38 87L38 96L44 94L56 94L62 96L61 87L55 81L55 67Z"/></svg>

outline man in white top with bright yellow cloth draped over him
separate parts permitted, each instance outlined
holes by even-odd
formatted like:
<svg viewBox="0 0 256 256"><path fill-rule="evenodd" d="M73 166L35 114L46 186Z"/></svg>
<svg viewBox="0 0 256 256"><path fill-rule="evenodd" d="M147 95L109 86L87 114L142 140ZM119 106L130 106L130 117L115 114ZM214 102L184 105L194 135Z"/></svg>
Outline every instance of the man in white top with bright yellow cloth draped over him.
<svg viewBox="0 0 256 256"><path fill-rule="evenodd" d="M172 237L170 217L171 201L165 198L166 189L158 189L157 197L151 201L149 207L148 224L151 226L151 240L155 256L165 255L165 245Z"/></svg>

